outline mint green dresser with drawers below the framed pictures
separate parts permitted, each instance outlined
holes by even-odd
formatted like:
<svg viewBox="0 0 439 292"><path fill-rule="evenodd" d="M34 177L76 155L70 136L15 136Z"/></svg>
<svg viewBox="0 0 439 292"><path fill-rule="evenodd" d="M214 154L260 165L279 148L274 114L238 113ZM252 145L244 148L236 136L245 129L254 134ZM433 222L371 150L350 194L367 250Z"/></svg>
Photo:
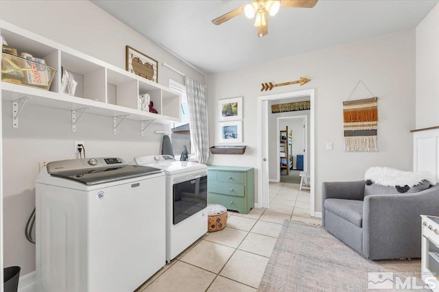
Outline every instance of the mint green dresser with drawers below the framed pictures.
<svg viewBox="0 0 439 292"><path fill-rule="evenodd" d="M254 206L252 167L207 166L207 202L247 214Z"/></svg>

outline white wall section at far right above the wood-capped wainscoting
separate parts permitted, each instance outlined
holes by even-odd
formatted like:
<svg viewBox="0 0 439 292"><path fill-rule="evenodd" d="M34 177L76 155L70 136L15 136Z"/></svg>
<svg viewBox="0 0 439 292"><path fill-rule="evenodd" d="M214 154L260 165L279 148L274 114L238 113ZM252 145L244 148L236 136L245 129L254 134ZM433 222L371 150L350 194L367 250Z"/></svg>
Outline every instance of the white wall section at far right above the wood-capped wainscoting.
<svg viewBox="0 0 439 292"><path fill-rule="evenodd" d="M416 128L439 125L439 4L416 27Z"/></svg>

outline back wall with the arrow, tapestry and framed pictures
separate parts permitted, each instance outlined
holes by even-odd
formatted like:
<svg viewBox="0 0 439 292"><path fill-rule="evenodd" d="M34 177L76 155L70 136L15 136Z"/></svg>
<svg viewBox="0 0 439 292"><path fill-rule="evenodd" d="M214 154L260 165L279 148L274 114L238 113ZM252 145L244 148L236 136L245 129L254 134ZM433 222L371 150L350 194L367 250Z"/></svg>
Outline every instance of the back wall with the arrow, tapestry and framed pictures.
<svg viewBox="0 0 439 292"><path fill-rule="evenodd" d="M269 41L269 39L261 39ZM303 86L276 87L261 92L263 82L287 82L309 77ZM377 153L345 153L342 102L362 80L379 97ZM316 88L316 211L321 210L321 184L326 181L361 180L368 167L412 169L412 134L415 125L415 31L388 34L340 45L259 66L207 77L211 145L217 145L217 100L244 96L246 153L212 155L213 165L254 167L257 191L257 98L294 90ZM351 99L370 97L361 86ZM326 143L333 143L333 151ZM255 198L257 200L257 197Z"/></svg>

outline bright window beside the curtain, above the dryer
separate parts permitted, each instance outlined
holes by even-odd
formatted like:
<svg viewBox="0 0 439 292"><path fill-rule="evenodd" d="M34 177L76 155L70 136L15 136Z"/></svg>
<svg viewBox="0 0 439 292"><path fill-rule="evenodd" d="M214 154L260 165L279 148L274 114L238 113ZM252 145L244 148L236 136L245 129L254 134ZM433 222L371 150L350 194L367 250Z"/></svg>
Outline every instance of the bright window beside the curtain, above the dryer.
<svg viewBox="0 0 439 292"><path fill-rule="evenodd" d="M180 154L187 147L189 154L191 153L191 131L189 130L189 107L187 104L186 86L169 79L169 88L176 90L181 95L181 122L172 125L172 149L176 159L180 159Z"/></svg>

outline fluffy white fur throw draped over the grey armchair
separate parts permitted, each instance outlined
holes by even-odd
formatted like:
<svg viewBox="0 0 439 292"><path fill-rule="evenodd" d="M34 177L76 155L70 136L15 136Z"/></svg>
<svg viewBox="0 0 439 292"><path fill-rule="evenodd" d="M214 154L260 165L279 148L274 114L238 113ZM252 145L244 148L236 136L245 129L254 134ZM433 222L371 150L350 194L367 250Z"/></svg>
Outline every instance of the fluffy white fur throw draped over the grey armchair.
<svg viewBox="0 0 439 292"><path fill-rule="evenodd" d="M431 185L436 184L436 178L427 172L400 171L390 167L370 167L364 174L364 180L371 180L381 186L410 186L427 180Z"/></svg>

